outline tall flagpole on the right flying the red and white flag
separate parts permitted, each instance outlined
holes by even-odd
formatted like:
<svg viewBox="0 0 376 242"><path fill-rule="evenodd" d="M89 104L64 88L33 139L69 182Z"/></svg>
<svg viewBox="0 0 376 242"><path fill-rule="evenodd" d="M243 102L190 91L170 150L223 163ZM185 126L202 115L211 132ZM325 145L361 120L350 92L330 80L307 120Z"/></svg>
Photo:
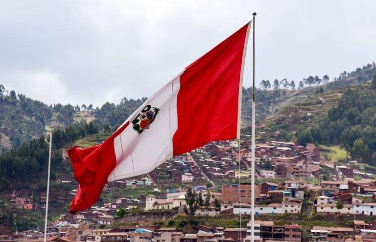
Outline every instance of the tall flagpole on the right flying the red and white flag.
<svg viewBox="0 0 376 242"><path fill-rule="evenodd" d="M253 67L253 85L252 85L252 160L251 160L251 168L252 168L252 188L251 188L251 196L252 196L252 209L251 209L251 242L255 241L255 116L256 116L256 93L255 93L255 17L256 13L253 13L253 60L252 60L252 67Z"/></svg>

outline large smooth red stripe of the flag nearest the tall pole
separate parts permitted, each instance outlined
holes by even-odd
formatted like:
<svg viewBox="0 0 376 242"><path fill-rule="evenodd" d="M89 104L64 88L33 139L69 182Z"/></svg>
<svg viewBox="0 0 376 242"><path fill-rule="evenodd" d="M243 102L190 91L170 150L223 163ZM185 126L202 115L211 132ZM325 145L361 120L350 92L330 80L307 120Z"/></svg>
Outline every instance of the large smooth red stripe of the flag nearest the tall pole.
<svg viewBox="0 0 376 242"><path fill-rule="evenodd" d="M174 155L212 140L236 138L240 71L248 24L188 66L180 76Z"/></svg>

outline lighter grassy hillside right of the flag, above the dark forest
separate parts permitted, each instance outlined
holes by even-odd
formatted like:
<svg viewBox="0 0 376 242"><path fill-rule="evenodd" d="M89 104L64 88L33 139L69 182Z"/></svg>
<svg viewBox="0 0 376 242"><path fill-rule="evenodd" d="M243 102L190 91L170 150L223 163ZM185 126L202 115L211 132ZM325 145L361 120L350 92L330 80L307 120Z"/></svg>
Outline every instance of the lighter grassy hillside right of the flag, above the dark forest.
<svg viewBox="0 0 376 242"><path fill-rule="evenodd" d="M347 73L347 72L345 72ZM257 122L265 124L267 137L273 132L295 132L299 125L309 127L313 123L320 123L327 116L328 111L338 105L341 96L348 87L358 88L359 91L370 89L370 81L376 73L376 67L369 65L363 69L343 74L335 81L305 87L297 90L262 90L256 92ZM246 92L251 96L252 91ZM251 102L244 102L242 106L242 122L251 123ZM250 98L248 98L251 100ZM291 136L289 136L291 138Z"/></svg>

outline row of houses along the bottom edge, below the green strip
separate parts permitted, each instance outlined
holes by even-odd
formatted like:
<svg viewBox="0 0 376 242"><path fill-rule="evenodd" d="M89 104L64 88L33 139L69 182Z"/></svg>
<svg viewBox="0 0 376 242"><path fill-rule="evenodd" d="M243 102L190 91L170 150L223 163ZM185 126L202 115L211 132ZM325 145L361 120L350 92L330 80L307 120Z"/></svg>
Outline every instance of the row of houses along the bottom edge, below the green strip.
<svg viewBox="0 0 376 242"><path fill-rule="evenodd" d="M50 242L251 242L251 221L246 228L207 227L198 225L197 233L184 233L173 227L127 226L93 229L88 224L58 221L47 225ZM0 242L41 242L44 234L27 230L13 235L1 235ZM353 227L312 226L306 234L295 223L275 224L255 220L254 241L257 242L375 242L376 221L353 220Z"/></svg>

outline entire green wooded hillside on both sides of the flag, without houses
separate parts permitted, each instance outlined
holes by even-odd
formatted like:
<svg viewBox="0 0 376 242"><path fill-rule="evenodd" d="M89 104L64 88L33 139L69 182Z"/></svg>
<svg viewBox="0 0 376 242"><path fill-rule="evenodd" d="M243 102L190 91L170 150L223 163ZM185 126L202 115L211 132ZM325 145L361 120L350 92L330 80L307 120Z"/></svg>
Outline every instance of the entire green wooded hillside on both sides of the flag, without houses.
<svg viewBox="0 0 376 242"><path fill-rule="evenodd" d="M305 141L330 147L335 144L336 149L345 147L353 158L364 159L365 155L373 157L376 150L376 109L373 109L376 107L376 91L370 81L375 71L375 66L365 66L349 74L342 73L334 82L298 90L258 89L257 122L264 127L257 129L258 141L295 139L302 144ZM250 88L243 89L243 140L246 134L250 134L251 95ZM124 98L118 105L106 103L101 108L93 109L84 105L47 106L22 94L17 95L15 91L0 95L0 229L14 221L18 224L22 220L24 228L28 228L39 225L43 220L43 216L40 216L43 213L40 198L44 196L47 185L48 138L41 135L50 129L55 130L49 212L51 218L55 218L66 212L70 202L67 194L77 185L70 160L64 151L71 145L87 147L100 143L144 101L145 98ZM357 116L362 119L356 119ZM375 119L368 118L371 116L375 116ZM338 129L333 132L328 127ZM349 129L345 132L347 127ZM280 135L275 136L274 132L278 131ZM367 133L374 136L365 136ZM343 139L333 140L332 136ZM362 139L361 142L358 139ZM353 149L355 141L357 145ZM370 164L374 162L371 158L364 161ZM63 184L62 180L72 183ZM18 217L14 218L7 203L13 191L20 197L32 197L37 204L35 210L38 215L19 210ZM104 198L113 198L114 191ZM122 195L128 196L134 191L124 192L127 194ZM59 197L66 198L65 203L59 203ZM35 219L21 219L29 217Z"/></svg>

